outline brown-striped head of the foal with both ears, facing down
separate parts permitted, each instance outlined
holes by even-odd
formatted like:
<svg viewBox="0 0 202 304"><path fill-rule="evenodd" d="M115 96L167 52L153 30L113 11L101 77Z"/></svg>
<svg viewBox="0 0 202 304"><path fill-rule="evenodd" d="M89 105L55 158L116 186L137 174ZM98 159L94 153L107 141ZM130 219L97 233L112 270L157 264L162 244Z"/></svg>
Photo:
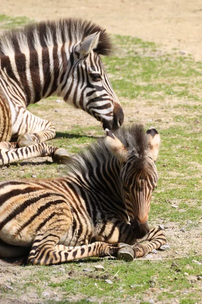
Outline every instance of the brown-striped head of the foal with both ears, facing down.
<svg viewBox="0 0 202 304"><path fill-rule="evenodd" d="M158 173L156 160L160 147L160 136L154 128L143 134L143 141L137 147L128 149L111 132L107 131L106 143L120 162L122 195L128 211L130 223L136 238L149 232L148 214L151 195L157 186Z"/></svg>

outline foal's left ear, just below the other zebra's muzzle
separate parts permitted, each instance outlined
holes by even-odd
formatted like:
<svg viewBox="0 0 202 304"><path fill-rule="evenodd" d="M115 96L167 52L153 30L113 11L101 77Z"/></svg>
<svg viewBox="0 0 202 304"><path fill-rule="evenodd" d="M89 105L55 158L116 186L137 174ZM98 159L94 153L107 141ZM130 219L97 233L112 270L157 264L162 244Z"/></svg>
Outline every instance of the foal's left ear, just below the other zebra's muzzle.
<svg viewBox="0 0 202 304"><path fill-rule="evenodd" d="M114 156L118 158L120 163L124 163L128 159L128 149L123 145L123 143L108 129L106 131L106 144L108 149L112 152Z"/></svg>

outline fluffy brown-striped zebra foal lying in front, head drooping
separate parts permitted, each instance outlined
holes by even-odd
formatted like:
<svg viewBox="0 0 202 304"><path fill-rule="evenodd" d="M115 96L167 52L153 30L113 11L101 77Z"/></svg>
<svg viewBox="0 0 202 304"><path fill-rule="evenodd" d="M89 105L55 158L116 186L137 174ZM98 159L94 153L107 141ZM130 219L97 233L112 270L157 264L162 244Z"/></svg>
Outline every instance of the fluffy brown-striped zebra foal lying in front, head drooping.
<svg viewBox="0 0 202 304"><path fill-rule="evenodd" d="M159 133L133 124L106 134L74 155L61 177L0 183L0 257L27 253L28 263L44 265L106 255L130 261L166 243L163 231L148 226Z"/></svg>

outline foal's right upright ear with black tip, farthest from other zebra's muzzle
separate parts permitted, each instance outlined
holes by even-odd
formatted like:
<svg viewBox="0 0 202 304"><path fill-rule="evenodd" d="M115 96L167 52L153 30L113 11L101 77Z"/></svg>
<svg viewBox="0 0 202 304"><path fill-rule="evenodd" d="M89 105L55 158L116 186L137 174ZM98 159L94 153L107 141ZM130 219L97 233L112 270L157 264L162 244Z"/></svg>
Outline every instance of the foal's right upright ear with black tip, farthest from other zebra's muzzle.
<svg viewBox="0 0 202 304"><path fill-rule="evenodd" d="M146 134L148 136L149 153L153 157L153 160L156 162L160 148L160 135L153 127L150 127L146 131Z"/></svg>

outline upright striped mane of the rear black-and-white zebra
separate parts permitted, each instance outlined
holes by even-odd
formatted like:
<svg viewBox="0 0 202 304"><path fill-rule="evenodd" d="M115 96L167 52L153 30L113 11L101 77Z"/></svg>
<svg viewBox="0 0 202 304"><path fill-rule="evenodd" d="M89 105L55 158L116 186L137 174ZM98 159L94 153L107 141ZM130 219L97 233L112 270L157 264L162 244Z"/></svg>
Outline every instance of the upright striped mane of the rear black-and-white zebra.
<svg viewBox="0 0 202 304"><path fill-rule="evenodd" d="M80 42L88 35L102 29L87 20L68 18L58 21L42 21L13 29L0 36L0 56L21 53L22 48L35 50L36 47L49 47L65 42ZM99 55L110 55L112 43L106 31L101 31L97 48Z"/></svg>

